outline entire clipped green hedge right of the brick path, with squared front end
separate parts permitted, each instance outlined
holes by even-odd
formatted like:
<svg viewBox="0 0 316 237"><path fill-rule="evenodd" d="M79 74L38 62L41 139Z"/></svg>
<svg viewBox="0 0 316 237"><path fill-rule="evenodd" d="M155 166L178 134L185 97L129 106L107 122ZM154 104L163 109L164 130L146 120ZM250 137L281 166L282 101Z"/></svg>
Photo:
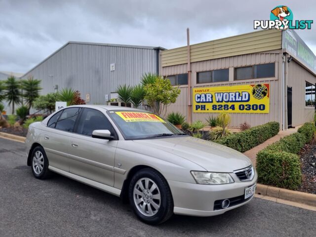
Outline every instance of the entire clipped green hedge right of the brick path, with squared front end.
<svg viewBox="0 0 316 237"><path fill-rule="evenodd" d="M301 184L301 164L297 155L313 139L315 125L305 123L257 154L258 182L296 190Z"/></svg>

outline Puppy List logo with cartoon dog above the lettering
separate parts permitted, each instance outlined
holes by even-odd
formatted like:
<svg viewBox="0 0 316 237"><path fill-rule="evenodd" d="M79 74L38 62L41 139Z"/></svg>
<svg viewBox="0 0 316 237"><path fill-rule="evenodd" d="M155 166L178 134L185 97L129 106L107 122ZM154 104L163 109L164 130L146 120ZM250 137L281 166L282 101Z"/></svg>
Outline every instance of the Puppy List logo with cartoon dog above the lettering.
<svg viewBox="0 0 316 237"><path fill-rule="evenodd" d="M293 21L293 12L287 6L279 5L271 10L270 20L254 20L253 28L277 29L277 30L310 30L313 20L295 20Z"/></svg>

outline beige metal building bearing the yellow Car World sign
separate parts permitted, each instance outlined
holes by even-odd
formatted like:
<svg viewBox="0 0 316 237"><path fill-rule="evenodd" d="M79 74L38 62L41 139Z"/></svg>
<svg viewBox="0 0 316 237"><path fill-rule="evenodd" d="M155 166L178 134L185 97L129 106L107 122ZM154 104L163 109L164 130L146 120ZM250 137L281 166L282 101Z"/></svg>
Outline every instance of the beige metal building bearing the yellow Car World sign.
<svg viewBox="0 0 316 237"><path fill-rule="evenodd" d="M200 95L194 96L199 89L225 93L230 88L237 88L236 85L240 88L244 88L242 85L258 88L255 86L258 84L264 84L269 89L265 108L270 107L270 110L260 112L260 105L259 110L255 105L246 111L247 105L240 107L239 103L239 110L243 111L236 113L226 107L226 112L232 113L231 126L237 127L245 121L251 126L278 121L280 128L286 129L314 117L316 56L291 30L256 31L165 50L160 55L161 75L181 89L177 102L168 107L168 112L178 111L186 115L189 121L199 119L205 122L207 117L217 116L220 108L224 111L222 105L210 107L213 104L210 101L207 104L205 100L205 103L201 103ZM253 93L254 90L249 91ZM224 105L226 102L218 104L221 103ZM205 111L205 106L212 109Z"/></svg>

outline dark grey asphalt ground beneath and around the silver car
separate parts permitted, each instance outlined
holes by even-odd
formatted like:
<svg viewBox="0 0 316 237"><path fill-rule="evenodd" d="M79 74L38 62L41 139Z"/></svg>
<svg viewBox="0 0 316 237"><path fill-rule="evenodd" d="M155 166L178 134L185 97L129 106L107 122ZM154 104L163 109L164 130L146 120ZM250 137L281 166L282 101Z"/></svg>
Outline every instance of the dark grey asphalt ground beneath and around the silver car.
<svg viewBox="0 0 316 237"><path fill-rule="evenodd" d="M221 216L149 226L118 197L57 174L35 179L24 144L0 138L1 237L314 237L315 226L316 212L259 198Z"/></svg>

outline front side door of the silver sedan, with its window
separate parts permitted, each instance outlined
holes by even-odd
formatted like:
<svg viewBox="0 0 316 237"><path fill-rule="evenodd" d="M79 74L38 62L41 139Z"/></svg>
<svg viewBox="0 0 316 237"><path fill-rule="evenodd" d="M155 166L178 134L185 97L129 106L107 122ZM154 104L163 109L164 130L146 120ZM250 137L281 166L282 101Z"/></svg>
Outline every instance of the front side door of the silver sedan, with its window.
<svg viewBox="0 0 316 237"><path fill-rule="evenodd" d="M84 108L69 143L70 172L114 186L114 158L117 140L92 138L93 130L107 129L115 137L109 119L95 109Z"/></svg>

